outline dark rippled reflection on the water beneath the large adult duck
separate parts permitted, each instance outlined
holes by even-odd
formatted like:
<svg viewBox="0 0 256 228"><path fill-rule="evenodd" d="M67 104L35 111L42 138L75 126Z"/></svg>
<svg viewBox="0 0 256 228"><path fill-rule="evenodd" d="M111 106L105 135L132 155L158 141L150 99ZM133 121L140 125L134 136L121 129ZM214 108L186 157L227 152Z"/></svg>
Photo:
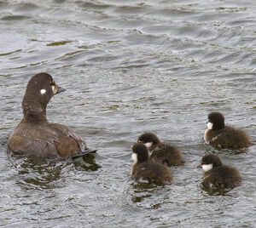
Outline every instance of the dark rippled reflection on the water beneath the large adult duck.
<svg viewBox="0 0 256 228"><path fill-rule="evenodd" d="M61 176L69 168L81 171L96 171L101 166L93 154L73 159L73 161L48 160L42 157L9 156L12 166L17 168L17 184L25 188L51 189L62 187Z"/></svg>

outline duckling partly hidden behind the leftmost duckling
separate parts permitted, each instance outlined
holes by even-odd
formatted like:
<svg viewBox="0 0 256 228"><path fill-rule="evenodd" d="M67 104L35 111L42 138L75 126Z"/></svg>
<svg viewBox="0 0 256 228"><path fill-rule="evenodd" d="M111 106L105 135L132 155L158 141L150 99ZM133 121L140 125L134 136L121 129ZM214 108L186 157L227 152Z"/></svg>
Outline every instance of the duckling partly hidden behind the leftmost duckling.
<svg viewBox="0 0 256 228"><path fill-rule="evenodd" d="M177 166L184 163L183 155L177 146L161 142L152 132L141 134L137 141L148 146L150 151L150 161L160 162L167 166Z"/></svg>

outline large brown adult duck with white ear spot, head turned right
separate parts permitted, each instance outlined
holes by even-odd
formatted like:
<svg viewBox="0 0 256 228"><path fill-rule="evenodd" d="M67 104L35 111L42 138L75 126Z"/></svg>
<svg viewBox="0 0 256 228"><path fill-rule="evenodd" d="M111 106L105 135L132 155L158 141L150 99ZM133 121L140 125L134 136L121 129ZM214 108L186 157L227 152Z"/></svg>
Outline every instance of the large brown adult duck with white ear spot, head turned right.
<svg viewBox="0 0 256 228"><path fill-rule="evenodd" d="M73 130L47 121L49 100L63 91L65 89L56 85L47 73L39 73L30 79L22 101L23 118L9 136L11 153L65 159L92 152Z"/></svg>

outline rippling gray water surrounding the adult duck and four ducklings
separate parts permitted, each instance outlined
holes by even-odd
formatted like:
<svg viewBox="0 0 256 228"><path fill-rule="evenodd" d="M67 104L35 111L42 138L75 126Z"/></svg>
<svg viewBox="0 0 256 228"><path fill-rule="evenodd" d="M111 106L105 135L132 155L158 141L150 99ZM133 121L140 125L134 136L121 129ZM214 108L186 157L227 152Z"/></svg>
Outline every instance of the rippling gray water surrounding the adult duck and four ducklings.
<svg viewBox="0 0 256 228"><path fill-rule="evenodd" d="M210 111L256 142L255 64L254 0L0 1L0 226L255 227L256 146L203 142ZM41 71L67 88L49 121L98 150L91 164L7 153ZM131 180L131 144L145 130L183 151L172 185ZM207 152L238 168L242 185L203 189Z"/></svg>

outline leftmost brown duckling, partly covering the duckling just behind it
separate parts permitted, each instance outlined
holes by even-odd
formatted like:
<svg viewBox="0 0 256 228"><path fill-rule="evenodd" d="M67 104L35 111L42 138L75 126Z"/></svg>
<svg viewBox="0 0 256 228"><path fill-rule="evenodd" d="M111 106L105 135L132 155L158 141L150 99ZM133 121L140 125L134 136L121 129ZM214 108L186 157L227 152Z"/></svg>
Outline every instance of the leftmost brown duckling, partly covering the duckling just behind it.
<svg viewBox="0 0 256 228"><path fill-rule="evenodd" d="M132 145L134 163L131 167L131 177L139 182L164 184L172 181L172 174L166 166L148 161L148 148L143 143Z"/></svg>

